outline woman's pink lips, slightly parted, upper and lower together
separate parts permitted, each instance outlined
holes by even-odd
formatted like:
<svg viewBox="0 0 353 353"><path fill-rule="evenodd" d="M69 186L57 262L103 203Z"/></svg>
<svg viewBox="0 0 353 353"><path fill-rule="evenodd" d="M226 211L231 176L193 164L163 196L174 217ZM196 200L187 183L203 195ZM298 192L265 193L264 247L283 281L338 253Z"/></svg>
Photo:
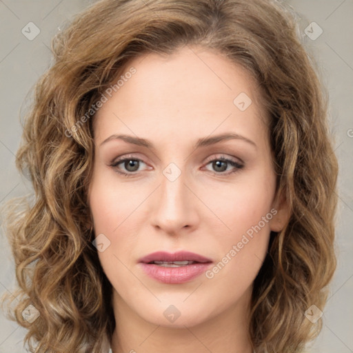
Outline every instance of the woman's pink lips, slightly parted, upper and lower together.
<svg viewBox="0 0 353 353"><path fill-rule="evenodd" d="M155 264L153 261L163 261L169 264ZM175 264L174 261L193 261L188 264ZM179 284L191 281L195 277L205 272L211 265L212 260L194 254L193 252L180 251L174 254L168 252L153 252L142 259L139 259L145 274L161 283Z"/></svg>

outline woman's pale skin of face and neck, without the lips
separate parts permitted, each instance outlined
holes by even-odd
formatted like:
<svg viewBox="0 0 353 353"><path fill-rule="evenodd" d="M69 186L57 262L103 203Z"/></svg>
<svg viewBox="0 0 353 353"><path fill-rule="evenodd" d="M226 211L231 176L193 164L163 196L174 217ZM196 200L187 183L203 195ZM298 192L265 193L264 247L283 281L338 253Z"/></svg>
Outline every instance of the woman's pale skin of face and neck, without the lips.
<svg viewBox="0 0 353 353"><path fill-rule="evenodd" d="M241 66L199 47L168 57L148 54L132 66L137 72L94 117L88 194L94 232L110 240L99 261L113 288L112 351L252 353L252 283L270 231L279 232L288 219L285 201L275 198L276 174L256 83ZM252 99L244 111L233 103L241 92ZM194 148L199 139L230 132L252 142L226 139ZM154 148L121 139L103 143L113 134L146 139ZM118 157L140 162L112 167ZM217 168L212 161L219 157L243 168L229 162ZM163 174L170 163L181 172L174 181ZM159 283L139 268L142 256L159 250L188 250L219 263L272 209L272 219L236 256L228 255L230 261L212 279L202 274L188 283ZM170 305L180 312L174 322L163 315Z"/></svg>

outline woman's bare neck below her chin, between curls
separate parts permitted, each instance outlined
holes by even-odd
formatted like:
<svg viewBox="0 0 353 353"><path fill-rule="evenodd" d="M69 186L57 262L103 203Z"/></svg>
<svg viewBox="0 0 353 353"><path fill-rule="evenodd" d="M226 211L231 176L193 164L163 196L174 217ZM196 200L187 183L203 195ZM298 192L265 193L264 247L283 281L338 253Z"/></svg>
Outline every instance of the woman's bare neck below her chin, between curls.
<svg viewBox="0 0 353 353"><path fill-rule="evenodd" d="M250 295L196 325L164 326L145 321L114 291L113 353L252 353L248 334ZM119 318L119 319L118 319Z"/></svg>

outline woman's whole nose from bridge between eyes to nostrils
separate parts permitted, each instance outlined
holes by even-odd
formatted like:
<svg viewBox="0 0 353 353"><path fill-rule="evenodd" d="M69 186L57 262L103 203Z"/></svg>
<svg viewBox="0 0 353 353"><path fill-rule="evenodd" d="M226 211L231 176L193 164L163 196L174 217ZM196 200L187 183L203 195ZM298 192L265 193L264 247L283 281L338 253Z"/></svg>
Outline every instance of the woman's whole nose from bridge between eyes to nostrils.
<svg viewBox="0 0 353 353"><path fill-rule="evenodd" d="M174 163L163 170L160 178L152 222L170 234L187 226L190 228L197 220L193 195L185 186L187 179L186 173Z"/></svg>

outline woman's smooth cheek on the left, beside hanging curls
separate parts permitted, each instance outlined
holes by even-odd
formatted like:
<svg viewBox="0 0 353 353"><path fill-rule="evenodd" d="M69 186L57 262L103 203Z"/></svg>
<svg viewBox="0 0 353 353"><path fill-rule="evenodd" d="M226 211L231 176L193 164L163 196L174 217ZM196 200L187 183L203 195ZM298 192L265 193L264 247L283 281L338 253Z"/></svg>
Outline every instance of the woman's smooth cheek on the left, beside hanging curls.
<svg viewBox="0 0 353 353"><path fill-rule="evenodd" d="M143 191L146 193L143 194ZM103 234L103 240L109 244L106 250L98 252L99 261L108 278L116 272L124 274L126 268L123 264L131 265L130 261L134 258L132 252L138 244L143 208L141 203L148 193L150 190L139 192L133 183L117 181L114 174L103 173L101 170L92 178L90 210L95 236ZM114 279L110 280L114 282Z"/></svg>

